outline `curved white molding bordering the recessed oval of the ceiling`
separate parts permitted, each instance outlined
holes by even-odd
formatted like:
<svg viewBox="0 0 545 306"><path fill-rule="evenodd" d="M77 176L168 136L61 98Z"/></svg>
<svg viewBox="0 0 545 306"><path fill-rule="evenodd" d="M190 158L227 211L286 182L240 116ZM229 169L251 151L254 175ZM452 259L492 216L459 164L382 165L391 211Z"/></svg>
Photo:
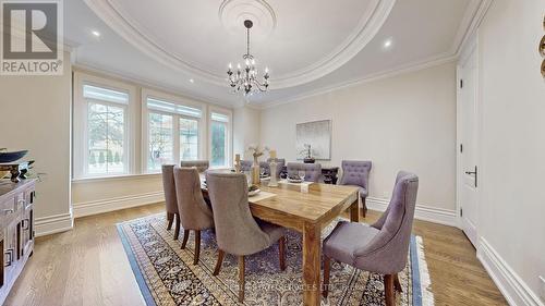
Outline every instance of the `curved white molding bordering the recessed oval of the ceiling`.
<svg viewBox="0 0 545 306"><path fill-rule="evenodd" d="M223 75L202 69L198 63L190 62L180 54L169 52L165 47L154 41L142 32L144 27L140 26L136 21L124 16L111 0L85 0L85 3L122 38L156 61L192 75L201 82L225 85ZM372 0L358 26L340 46L307 68L275 76L271 78L270 88L281 89L306 84L346 64L373 39L386 22L395 3L396 0Z"/></svg>

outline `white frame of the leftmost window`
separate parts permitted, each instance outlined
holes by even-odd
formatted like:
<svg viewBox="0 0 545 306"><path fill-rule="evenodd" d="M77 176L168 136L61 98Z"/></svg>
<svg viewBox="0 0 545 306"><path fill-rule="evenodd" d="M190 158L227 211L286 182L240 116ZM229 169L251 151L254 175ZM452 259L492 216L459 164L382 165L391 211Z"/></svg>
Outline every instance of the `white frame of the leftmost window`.
<svg viewBox="0 0 545 306"><path fill-rule="evenodd" d="M131 175L135 173L135 135L134 124L134 100L136 96L136 88L123 82L117 82L109 78L86 74L84 72L74 72L74 105L73 105L73 179L101 179L101 178L116 178L123 175ZM84 85L95 86L99 88L121 91L128 94L129 100L126 105L116 103L106 100L94 98L85 98L83 96ZM88 173L88 106L89 101L111 107L120 107L123 109L123 172L116 173Z"/></svg>

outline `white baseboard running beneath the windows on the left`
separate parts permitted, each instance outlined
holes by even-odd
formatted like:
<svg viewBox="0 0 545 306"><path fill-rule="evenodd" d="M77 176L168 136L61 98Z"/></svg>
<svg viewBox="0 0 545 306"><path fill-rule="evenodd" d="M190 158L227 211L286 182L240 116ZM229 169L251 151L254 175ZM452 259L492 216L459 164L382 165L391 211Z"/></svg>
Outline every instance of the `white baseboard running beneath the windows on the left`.
<svg viewBox="0 0 545 306"><path fill-rule="evenodd" d="M125 209L136 206L143 206L154 203L159 203L165 200L165 194L162 191L145 193L140 195L113 197L107 199L74 203L72 207L74 209L74 217L84 217L90 215L97 215L119 209Z"/></svg>

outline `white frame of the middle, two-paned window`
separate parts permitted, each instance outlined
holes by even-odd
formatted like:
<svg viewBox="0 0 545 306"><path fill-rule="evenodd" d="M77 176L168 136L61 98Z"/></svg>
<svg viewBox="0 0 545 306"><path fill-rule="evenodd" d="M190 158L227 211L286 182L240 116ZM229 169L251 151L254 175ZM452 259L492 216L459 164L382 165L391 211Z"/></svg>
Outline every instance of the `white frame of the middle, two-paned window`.
<svg viewBox="0 0 545 306"><path fill-rule="evenodd" d="M148 109L147 107L147 99L157 99L161 100L165 102L170 102L183 107L191 107L195 109L201 110L201 118L197 117L191 117L191 115L184 115L184 114L179 114L174 112L168 112L168 111L160 111L160 110L154 110L154 109ZM206 135L206 124L205 124L205 118L206 118L206 103L202 102L196 102L196 101L190 101L183 97L177 96L177 95L171 95L167 93L162 93L159 90L155 89L149 89L149 88L142 88L142 173L159 173L160 170L149 170L148 169L148 142L149 142L149 113L161 113L161 114L168 114L172 115L172 135L173 135L173 142L172 142L172 163L174 164L180 164L181 157L180 157L180 118L183 119L190 119L190 120L196 120L197 121L197 128L198 128L198 145L197 145L197 159L203 159L205 158L205 138L204 136Z"/></svg>

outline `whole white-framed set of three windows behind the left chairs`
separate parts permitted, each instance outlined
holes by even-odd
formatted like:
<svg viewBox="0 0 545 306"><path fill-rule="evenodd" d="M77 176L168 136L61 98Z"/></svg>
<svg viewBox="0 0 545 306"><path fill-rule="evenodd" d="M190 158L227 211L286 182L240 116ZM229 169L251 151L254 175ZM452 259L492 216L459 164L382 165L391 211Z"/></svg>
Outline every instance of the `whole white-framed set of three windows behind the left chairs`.
<svg viewBox="0 0 545 306"><path fill-rule="evenodd" d="M73 90L74 181L160 173L181 160L232 166L230 109L83 71Z"/></svg>

